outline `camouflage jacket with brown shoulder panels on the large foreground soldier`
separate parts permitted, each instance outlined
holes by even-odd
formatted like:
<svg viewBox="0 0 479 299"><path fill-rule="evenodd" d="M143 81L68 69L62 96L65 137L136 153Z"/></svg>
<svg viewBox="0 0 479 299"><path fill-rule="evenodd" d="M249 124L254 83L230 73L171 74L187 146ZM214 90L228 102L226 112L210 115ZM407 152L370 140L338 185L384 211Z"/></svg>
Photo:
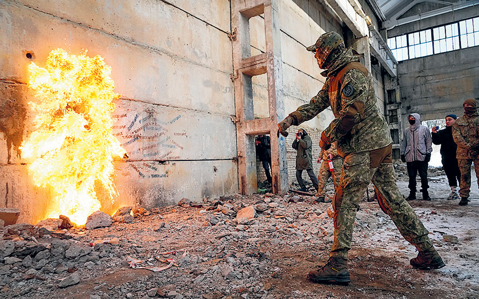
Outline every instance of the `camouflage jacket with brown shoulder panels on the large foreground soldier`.
<svg viewBox="0 0 479 299"><path fill-rule="evenodd" d="M331 142L338 142L342 157L392 143L389 127L379 112L371 75L356 54L351 48L344 51L321 73L327 78L318 94L290 114L297 122L294 125L299 125L330 106L335 119L324 133Z"/></svg>

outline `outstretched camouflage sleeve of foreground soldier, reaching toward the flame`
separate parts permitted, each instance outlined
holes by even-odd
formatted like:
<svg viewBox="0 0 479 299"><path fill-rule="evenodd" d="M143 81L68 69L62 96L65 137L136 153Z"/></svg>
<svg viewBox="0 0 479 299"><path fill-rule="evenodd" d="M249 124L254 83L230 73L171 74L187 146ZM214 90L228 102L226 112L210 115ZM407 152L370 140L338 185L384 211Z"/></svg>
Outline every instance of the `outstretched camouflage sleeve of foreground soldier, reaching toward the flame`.
<svg viewBox="0 0 479 299"><path fill-rule="evenodd" d="M289 114L295 120L293 125L297 126L305 121L309 121L329 107L328 88L329 78L326 79L323 88L321 88L318 94L311 98L309 104L301 105L296 111Z"/></svg>

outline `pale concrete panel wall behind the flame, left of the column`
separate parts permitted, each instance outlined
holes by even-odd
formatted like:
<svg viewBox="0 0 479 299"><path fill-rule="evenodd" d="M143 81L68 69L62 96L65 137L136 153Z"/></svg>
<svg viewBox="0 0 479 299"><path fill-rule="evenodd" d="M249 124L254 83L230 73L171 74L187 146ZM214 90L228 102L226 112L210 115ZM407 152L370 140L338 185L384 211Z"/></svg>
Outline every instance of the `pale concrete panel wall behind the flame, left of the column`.
<svg viewBox="0 0 479 299"><path fill-rule="evenodd" d="M130 155L115 164L116 206L238 191L230 2L170 2L0 0L0 206L18 207L19 221L43 217L51 195L17 150L32 128L24 51L41 66L54 48L88 49L112 67L114 133Z"/></svg>

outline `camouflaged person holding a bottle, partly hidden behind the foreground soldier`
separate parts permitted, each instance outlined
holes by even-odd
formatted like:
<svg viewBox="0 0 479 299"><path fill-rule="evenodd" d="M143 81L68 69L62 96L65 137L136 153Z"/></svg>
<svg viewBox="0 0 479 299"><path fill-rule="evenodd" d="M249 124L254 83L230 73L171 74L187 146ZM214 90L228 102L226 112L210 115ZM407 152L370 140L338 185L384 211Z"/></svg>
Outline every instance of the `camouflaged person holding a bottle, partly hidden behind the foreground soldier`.
<svg viewBox="0 0 479 299"><path fill-rule="evenodd" d="M328 155L332 156L332 162L334 171L331 172L329 170L329 163L328 163ZM338 188L339 185L339 178L341 177L341 168L343 167L343 158L338 155L338 151L336 150L336 143L333 142L331 144L331 148L328 150L321 149L320 157L318 158L318 163L320 160L321 166L319 168L318 174L318 193L316 194L316 201L317 202L325 202L324 198L326 196L326 184L328 182L329 177L333 178L334 190Z"/></svg>

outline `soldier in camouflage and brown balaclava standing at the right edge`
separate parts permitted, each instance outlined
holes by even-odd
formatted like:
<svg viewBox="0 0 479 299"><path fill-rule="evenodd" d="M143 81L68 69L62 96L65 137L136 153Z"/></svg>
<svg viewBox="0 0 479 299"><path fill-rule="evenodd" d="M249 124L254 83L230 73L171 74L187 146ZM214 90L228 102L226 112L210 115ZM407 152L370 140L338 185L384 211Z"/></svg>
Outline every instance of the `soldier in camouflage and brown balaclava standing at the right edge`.
<svg viewBox="0 0 479 299"><path fill-rule="evenodd" d="M459 205L467 205L471 189L471 164L474 161L476 176L479 178L479 113L478 102L468 99L463 104L464 116L453 125L453 139L458 145L456 151L459 170L461 171L461 188ZM478 180L479 183L479 180Z"/></svg>

